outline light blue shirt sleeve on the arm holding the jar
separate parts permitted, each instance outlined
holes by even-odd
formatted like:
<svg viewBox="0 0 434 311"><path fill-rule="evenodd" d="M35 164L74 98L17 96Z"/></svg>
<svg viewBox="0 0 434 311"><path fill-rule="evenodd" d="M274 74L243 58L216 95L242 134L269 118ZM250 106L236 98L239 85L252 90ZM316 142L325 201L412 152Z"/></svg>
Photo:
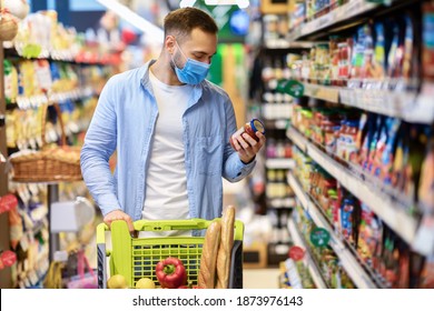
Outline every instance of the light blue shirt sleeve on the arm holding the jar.
<svg viewBox="0 0 434 311"><path fill-rule="evenodd" d="M248 175L256 165L256 160L250 163L243 163L238 153L231 148L229 143L230 136L237 130L237 122L235 118L234 106L226 94L226 131L225 131L225 156L223 163L223 177L230 182L237 182Z"/></svg>

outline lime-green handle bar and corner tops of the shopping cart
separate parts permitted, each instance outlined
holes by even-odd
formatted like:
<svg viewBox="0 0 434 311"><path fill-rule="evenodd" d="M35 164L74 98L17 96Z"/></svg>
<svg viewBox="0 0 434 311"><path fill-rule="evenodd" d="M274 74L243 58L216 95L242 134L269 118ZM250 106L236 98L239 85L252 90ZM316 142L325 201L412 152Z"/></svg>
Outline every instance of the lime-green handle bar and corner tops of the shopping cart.
<svg viewBox="0 0 434 311"><path fill-rule="evenodd" d="M137 231L169 231L169 230L201 230L207 229L213 221L220 220L216 218L214 220L205 220L200 218L186 219L186 220L137 220L134 222L134 228ZM114 221L115 222L118 222ZM119 221L120 222L120 221ZM127 227L126 227L127 228ZM100 223L97 227L97 243L106 243L106 231L110 231L110 228L106 223ZM239 220L235 221L234 240L243 241L244 223Z"/></svg>

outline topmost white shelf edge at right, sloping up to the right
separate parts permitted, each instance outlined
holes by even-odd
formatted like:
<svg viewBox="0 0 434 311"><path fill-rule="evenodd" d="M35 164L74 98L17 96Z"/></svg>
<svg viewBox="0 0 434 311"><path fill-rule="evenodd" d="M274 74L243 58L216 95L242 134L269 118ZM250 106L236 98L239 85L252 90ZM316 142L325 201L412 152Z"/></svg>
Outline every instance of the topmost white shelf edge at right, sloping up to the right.
<svg viewBox="0 0 434 311"><path fill-rule="evenodd" d="M297 27L289 33L289 41L295 41L310 34L318 33L326 28L337 26L338 23L351 18L367 13L378 7L378 4L368 3L365 0L351 1L320 18L306 22Z"/></svg>

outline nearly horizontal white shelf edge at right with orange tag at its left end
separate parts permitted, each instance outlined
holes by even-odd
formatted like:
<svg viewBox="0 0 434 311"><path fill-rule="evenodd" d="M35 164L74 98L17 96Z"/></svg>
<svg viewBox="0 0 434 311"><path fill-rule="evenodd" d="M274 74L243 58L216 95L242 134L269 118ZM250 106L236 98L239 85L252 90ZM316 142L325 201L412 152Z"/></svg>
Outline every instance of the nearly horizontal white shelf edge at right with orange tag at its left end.
<svg viewBox="0 0 434 311"><path fill-rule="evenodd" d="M305 96L425 124L434 122L433 94L433 83L424 83L421 93L305 83Z"/></svg>

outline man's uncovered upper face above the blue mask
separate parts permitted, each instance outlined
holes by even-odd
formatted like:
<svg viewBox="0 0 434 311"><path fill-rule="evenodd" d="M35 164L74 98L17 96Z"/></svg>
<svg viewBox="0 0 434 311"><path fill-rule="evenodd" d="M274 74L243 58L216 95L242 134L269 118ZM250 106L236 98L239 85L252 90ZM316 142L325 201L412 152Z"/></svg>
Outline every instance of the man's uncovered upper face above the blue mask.
<svg viewBox="0 0 434 311"><path fill-rule="evenodd" d="M177 38L175 38L176 40ZM217 51L217 36L207 33L196 28L191 31L190 37L184 41L175 43L174 62L176 67L183 69L187 62L187 58L211 63L211 58ZM184 53L184 54L183 54ZM174 66L171 63L171 66Z"/></svg>

